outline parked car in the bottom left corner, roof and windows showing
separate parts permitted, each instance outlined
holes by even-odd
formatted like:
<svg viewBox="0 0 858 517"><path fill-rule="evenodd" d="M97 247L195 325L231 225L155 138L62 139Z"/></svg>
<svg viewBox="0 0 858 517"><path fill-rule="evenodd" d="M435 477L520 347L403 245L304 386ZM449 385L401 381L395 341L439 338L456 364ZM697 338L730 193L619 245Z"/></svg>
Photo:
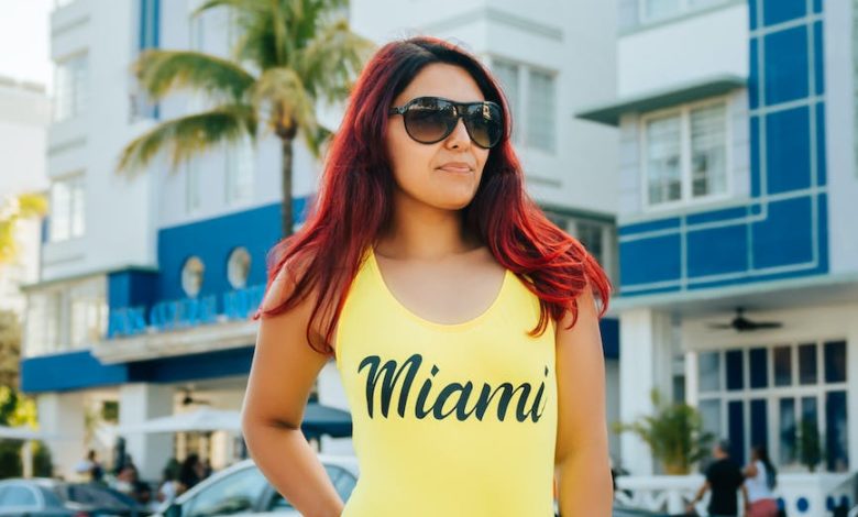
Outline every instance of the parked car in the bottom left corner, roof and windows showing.
<svg viewBox="0 0 858 517"><path fill-rule="evenodd" d="M98 483L0 481L0 516L140 517L150 512L131 497Z"/></svg>

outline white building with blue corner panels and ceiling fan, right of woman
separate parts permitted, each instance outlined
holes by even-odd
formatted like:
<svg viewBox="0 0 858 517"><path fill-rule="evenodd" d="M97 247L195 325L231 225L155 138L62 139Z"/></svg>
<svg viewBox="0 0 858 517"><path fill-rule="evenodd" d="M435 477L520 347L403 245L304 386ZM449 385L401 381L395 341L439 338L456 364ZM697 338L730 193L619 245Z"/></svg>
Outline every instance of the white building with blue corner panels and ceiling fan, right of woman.
<svg viewBox="0 0 858 517"><path fill-rule="evenodd" d="M659 388L738 461L767 444L790 515L855 504L856 3L617 3L616 95L579 117L620 134L623 420ZM801 421L823 436L821 474L801 474ZM659 472L631 435L622 459ZM639 501L673 491L635 483Z"/></svg>

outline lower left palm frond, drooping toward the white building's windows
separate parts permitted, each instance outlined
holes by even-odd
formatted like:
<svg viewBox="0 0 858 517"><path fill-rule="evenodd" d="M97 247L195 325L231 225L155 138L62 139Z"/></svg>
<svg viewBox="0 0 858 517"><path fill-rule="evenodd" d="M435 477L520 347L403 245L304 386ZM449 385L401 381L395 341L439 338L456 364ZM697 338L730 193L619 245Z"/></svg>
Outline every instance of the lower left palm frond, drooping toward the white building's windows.
<svg viewBox="0 0 858 517"><path fill-rule="evenodd" d="M133 140L122 151L117 168L140 170L161 152L168 152L170 166L218 144L238 142L244 135L256 136L256 113L250 105L219 106L158 124Z"/></svg>

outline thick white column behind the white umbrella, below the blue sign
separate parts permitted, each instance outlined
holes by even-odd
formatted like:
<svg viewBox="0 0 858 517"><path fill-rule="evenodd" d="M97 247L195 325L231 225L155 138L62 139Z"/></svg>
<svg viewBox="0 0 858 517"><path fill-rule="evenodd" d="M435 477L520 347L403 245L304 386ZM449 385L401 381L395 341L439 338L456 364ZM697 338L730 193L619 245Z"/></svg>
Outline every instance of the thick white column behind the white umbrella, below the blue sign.
<svg viewBox="0 0 858 517"><path fill-rule="evenodd" d="M173 387L161 384L123 384L119 388L119 425L136 426L173 414ZM160 480L173 457L173 433L129 433L125 453L131 454L142 480Z"/></svg>

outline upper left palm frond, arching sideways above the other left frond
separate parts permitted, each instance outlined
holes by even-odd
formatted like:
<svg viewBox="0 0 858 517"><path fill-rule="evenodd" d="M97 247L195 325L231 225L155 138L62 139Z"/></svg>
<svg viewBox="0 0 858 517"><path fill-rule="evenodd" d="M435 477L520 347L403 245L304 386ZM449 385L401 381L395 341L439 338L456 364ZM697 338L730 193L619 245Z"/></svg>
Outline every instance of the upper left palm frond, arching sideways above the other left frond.
<svg viewBox="0 0 858 517"><path fill-rule="evenodd" d="M190 51L146 51L135 63L135 72L154 100L176 89L190 88L235 102L244 98L255 80L231 61Z"/></svg>

